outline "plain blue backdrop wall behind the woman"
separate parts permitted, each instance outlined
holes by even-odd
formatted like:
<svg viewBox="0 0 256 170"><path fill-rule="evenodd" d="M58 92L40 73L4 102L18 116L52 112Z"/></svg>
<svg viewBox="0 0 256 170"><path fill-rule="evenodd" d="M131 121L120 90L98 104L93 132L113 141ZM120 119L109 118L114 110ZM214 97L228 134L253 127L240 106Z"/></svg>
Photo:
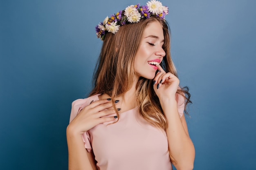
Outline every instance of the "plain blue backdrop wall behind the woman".
<svg viewBox="0 0 256 170"><path fill-rule="evenodd" d="M90 92L101 48L94 26L137 2L0 1L1 169L67 169L71 103ZM192 95L194 169L256 169L256 1L162 3Z"/></svg>

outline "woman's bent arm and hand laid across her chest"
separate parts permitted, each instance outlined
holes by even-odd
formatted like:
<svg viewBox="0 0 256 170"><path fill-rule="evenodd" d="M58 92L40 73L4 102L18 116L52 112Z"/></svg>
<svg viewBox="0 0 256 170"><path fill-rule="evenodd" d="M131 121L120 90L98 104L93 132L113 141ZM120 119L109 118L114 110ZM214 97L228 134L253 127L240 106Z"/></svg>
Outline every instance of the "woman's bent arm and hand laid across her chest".
<svg viewBox="0 0 256 170"><path fill-rule="evenodd" d="M112 102L103 99L89 104L76 117L72 116L74 119L67 126L69 170L97 170L93 153L85 149L82 134L98 124L115 120L108 117L114 113Z"/></svg>

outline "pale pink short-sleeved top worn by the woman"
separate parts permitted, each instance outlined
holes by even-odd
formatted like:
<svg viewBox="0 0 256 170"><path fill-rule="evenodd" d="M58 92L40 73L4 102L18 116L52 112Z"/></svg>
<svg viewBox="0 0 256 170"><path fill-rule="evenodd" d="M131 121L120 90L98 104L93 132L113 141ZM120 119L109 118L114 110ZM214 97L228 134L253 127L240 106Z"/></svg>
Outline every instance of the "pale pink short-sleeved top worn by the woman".
<svg viewBox="0 0 256 170"><path fill-rule="evenodd" d="M98 96L75 100L70 122L92 100L99 100ZM184 111L184 100L181 102L180 116ZM98 170L172 170L166 133L139 117L138 108L120 113L117 123L109 123L99 124L82 136L85 148L94 152Z"/></svg>

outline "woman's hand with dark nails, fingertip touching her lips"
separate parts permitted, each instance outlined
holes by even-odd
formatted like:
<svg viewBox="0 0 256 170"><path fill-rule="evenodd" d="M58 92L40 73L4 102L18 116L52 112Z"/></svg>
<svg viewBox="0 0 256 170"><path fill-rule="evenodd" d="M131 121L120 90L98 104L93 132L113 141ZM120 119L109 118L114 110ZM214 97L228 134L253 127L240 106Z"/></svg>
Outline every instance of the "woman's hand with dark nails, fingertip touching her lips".
<svg viewBox="0 0 256 170"><path fill-rule="evenodd" d="M179 87L180 80L172 73L166 73L164 69L158 65L158 72L155 75L154 90L159 99L173 99Z"/></svg>

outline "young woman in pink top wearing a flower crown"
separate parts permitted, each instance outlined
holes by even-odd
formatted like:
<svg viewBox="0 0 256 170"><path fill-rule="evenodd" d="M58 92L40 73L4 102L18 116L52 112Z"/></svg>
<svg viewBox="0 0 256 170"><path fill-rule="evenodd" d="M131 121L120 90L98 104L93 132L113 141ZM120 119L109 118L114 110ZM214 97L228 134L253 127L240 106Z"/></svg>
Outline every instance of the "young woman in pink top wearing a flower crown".
<svg viewBox="0 0 256 170"><path fill-rule="evenodd" d="M193 169L183 112L190 102L170 54L159 1L131 5L97 27L103 40L90 96L72 103L70 170Z"/></svg>

